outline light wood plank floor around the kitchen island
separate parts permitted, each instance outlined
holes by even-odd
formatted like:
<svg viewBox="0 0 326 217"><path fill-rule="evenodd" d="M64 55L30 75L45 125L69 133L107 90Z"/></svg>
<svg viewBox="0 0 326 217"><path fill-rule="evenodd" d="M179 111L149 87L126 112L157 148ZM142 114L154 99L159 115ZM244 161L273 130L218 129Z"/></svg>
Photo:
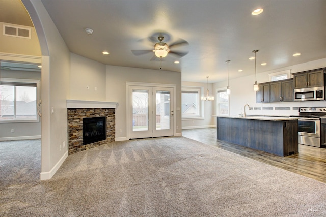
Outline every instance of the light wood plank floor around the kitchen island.
<svg viewBox="0 0 326 217"><path fill-rule="evenodd" d="M216 140L216 128L182 130L182 136L326 183L326 148L299 145L299 153L280 157Z"/></svg>

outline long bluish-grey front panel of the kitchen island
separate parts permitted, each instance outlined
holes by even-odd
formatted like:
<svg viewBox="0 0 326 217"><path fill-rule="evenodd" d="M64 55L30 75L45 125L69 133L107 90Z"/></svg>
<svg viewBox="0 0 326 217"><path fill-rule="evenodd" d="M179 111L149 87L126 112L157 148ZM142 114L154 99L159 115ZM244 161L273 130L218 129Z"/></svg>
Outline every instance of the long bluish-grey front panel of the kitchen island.
<svg viewBox="0 0 326 217"><path fill-rule="evenodd" d="M284 122L218 117L217 139L284 156Z"/></svg>

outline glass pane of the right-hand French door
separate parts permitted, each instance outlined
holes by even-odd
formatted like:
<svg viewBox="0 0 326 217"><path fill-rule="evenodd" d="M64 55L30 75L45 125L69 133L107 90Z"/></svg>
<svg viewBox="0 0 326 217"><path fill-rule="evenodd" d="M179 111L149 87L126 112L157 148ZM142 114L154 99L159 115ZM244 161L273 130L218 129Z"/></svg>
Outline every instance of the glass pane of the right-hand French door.
<svg viewBox="0 0 326 217"><path fill-rule="evenodd" d="M156 91L156 130L170 129L170 91Z"/></svg>

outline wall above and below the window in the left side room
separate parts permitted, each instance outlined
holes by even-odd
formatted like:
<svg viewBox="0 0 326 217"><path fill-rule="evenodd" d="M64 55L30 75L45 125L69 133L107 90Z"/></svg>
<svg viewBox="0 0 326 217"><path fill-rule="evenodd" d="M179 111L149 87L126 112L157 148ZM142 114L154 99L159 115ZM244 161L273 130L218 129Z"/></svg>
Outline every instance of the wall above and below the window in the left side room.
<svg viewBox="0 0 326 217"><path fill-rule="evenodd" d="M41 80L40 72L2 70L1 78ZM0 123L0 140L41 138L41 122ZM14 130L11 133L11 129Z"/></svg>

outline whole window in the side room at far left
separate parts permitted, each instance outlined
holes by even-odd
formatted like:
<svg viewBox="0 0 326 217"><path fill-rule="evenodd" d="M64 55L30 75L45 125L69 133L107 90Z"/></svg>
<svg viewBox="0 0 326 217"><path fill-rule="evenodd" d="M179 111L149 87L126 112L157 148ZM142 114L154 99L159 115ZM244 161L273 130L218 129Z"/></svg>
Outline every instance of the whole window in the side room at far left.
<svg viewBox="0 0 326 217"><path fill-rule="evenodd" d="M5 79L0 81L0 122L35 122L39 80Z"/></svg>

